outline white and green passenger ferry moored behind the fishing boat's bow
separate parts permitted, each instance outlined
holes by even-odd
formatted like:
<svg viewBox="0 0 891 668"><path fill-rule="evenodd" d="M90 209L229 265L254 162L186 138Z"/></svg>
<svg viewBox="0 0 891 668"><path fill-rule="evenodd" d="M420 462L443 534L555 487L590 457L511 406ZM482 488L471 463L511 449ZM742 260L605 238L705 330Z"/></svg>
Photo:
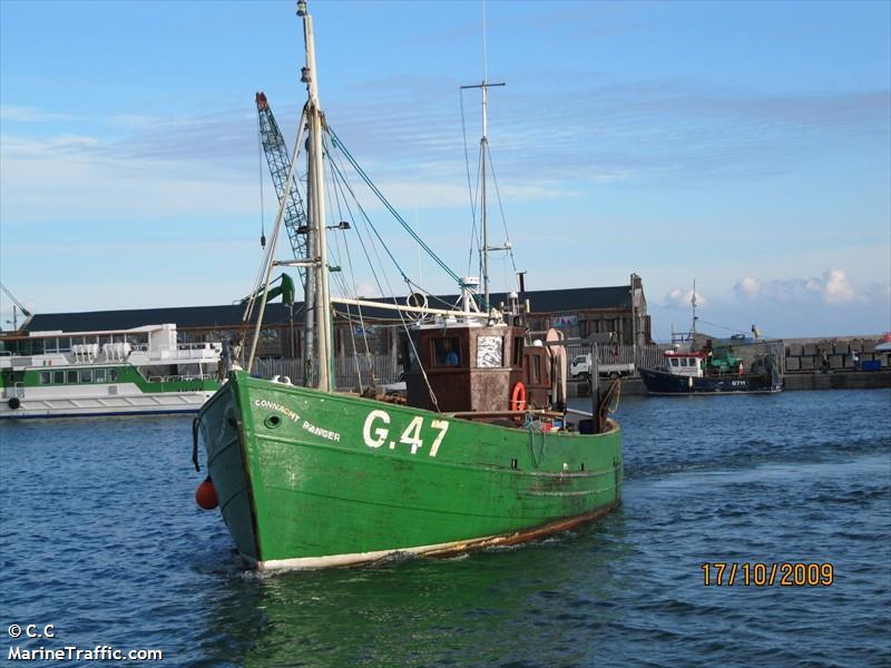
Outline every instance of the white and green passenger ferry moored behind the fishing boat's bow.
<svg viewBox="0 0 891 668"><path fill-rule="evenodd" d="M0 420L196 413L219 387L221 344L176 325L13 332L0 338Z"/></svg>

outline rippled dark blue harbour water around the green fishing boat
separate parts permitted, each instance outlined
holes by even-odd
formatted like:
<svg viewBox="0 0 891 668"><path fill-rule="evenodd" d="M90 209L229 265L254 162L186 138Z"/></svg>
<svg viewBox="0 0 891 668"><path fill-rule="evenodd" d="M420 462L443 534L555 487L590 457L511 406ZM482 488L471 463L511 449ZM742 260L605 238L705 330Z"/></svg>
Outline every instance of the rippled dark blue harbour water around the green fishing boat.
<svg viewBox="0 0 891 668"><path fill-rule="evenodd" d="M188 419L2 424L0 662L107 645L170 666L888 666L889 407L889 390L628 397L607 518L273 577L196 508ZM831 562L834 583L705 587L706 561ZM13 641L10 623L55 638Z"/></svg>

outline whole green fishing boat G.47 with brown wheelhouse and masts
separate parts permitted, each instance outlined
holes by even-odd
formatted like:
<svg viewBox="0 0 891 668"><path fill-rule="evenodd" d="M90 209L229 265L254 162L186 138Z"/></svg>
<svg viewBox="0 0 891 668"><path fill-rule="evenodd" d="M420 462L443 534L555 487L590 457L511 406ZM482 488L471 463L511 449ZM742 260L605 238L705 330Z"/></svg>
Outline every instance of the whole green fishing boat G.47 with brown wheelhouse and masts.
<svg viewBox="0 0 891 668"><path fill-rule="evenodd" d="M305 2L297 13L309 101L294 160L309 128L310 253L271 259L283 198L261 274L268 285L273 265L306 268L313 323L307 358L317 372L310 374L312 387L253 377L252 353L247 371L228 373L195 421L193 459L197 469L203 440L208 471L196 494L199 504L218 502L238 552L260 569L450 556L528 541L609 512L620 501L620 430L597 399L591 413L566 409L560 344L567 342L555 331L527 331L522 295L511 295L501 308L488 304L484 264L491 248L484 238L482 294L474 281L461 279L459 307L432 308L417 296L411 305L331 296L323 183L329 170L322 165L330 150L323 150L323 132L335 145L340 140L319 104ZM486 141L483 131L483 148ZM288 187L293 176L292 164ZM264 305L265 298L258 320ZM335 391L335 307L409 314L407 405Z"/></svg>

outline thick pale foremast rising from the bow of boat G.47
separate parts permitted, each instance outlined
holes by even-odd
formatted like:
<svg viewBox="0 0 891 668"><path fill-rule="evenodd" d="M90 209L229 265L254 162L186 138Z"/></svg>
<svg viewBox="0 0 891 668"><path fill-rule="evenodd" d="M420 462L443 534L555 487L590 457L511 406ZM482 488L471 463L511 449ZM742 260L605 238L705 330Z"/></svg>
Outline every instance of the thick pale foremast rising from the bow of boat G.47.
<svg viewBox="0 0 891 668"><path fill-rule="evenodd" d="M322 165L322 125L324 122L322 108L319 104L319 88L315 69L315 40L313 36L313 18L306 11L305 0L297 2L297 16L303 18L303 37L306 45L306 67L303 68L301 80L306 84L309 101L306 117L310 125L309 159L309 191L310 198L310 230L314 244L313 261L315 266L315 301L312 304L315 321L315 358L319 361L319 375L315 386L327 392L334 391L331 375L331 293L329 287L327 243L325 239L325 184L324 167Z"/></svg>

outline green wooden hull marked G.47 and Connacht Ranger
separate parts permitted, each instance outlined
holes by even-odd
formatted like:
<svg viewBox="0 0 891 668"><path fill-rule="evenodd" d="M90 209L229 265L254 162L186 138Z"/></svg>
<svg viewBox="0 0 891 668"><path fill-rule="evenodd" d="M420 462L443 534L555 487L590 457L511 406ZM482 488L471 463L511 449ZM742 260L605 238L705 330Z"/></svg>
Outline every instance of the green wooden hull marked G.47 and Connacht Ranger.
<svg viewBox="0 0 891 668"><path fill-rule="evenodd" d="M519 542L604 514L621 493L615 425L508 429L243 372L198 419L223 517L260 568Z"/></svg>

